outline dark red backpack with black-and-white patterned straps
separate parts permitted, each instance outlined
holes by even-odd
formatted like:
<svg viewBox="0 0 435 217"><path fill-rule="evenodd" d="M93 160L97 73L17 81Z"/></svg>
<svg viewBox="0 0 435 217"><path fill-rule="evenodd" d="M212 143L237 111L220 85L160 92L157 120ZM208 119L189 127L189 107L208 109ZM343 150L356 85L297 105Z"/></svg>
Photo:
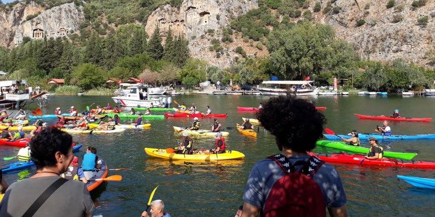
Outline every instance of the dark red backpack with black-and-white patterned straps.
<svg viewBox="0 0 435 217"><path fill-rule="evenodd" d="M285 175L270 189L261 216L325 217L326 205L322 190L312 179L325 162L311 156L308 161L298 161L292 165L282 154L268 158L274 160ZM297 165L303 165L300 171L296 171Z"/></svg>

